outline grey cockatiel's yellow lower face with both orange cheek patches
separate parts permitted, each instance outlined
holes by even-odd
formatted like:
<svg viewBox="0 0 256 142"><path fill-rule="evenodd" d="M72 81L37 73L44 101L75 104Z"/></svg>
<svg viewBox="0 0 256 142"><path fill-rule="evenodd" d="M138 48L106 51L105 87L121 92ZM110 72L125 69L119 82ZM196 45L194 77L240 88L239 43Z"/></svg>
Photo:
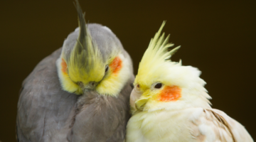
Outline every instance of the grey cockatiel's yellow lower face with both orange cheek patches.
<svg viewBox="0 0 256 142"><path fill-rule="evenodd" d="M106 65L98 62L93 65L89 72L79 70L77 67L68 67L63 58L60 61L63 89L75 94L82 94L82 90L95 85L100 94L117 94L122 89L121 70L124 67L124 58L122 55L110 58ZM125 68L125 67L124 67ZM117 84L116 82L121 82ZM94 84L95 83L95 84Z"/></svg>

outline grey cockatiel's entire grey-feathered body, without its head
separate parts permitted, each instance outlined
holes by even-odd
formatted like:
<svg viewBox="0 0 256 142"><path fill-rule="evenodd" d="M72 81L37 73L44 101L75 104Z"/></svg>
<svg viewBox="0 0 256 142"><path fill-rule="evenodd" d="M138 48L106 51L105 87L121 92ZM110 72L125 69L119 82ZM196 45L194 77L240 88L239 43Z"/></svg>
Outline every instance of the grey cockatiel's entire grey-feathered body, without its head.
<svg viewBox="0 0 256 142"><path fill-rule="evenodd" d="M63 91L55 60L42 60L23 82L18 100L18 141L123 141L129 115L129 85L116 97L96 92L78 97Z"/></svg>

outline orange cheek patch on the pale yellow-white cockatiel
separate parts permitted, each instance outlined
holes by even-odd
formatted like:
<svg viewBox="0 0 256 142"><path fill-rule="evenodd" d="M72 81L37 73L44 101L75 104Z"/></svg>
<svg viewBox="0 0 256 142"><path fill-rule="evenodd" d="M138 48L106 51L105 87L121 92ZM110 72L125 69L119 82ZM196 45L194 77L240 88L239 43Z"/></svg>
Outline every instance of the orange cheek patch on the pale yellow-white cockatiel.
<svg viewBox="0 0 256 142"><path fill-rule="evenodd" d="M164 89L161 90L159 95L159 101L161 102L170 102L176 101L181 97L181 88L177 86L165 86Z"/></svg>

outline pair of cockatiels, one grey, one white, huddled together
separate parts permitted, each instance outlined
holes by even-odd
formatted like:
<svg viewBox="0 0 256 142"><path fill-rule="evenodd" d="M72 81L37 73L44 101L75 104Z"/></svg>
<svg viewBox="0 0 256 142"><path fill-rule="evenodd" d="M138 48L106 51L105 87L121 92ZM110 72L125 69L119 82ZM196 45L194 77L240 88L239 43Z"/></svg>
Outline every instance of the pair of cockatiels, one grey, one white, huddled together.
<svg viewBox="0 0 256 142"><path fill-rule="evenodd" d="M116 35L86 24L75 6L79 28L23 81L18 141L253 141L241 124L211 109L197 68L171 62L179 47L169 50L164 23L134 80Z"/></svg>

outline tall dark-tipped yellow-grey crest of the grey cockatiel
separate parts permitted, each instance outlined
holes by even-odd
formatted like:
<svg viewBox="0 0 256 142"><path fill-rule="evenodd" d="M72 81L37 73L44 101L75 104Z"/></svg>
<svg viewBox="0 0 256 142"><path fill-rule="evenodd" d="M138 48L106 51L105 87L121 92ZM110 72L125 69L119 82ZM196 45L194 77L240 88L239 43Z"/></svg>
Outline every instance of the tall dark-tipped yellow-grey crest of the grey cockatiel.
<svg viewBox="0 0 256 142"><path fill-rule="evenodd" d="M75 43L75 47L70 53L70 58L67 60L69 67L68 72L70 74L72 74L72 72L80 72L80 74L83 75L83 72L91 72L91 69L98 70L98 67L103 65L102 62L100 62L101 60L99 60L102 55L97 48L97 44L92 43L90 31L87 29L85 23L85 14L82 13L78 1L76 1L75 7L78 11L80 32L77 43Z"/></svg>

